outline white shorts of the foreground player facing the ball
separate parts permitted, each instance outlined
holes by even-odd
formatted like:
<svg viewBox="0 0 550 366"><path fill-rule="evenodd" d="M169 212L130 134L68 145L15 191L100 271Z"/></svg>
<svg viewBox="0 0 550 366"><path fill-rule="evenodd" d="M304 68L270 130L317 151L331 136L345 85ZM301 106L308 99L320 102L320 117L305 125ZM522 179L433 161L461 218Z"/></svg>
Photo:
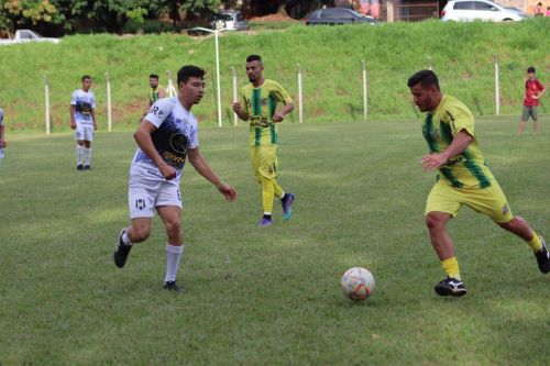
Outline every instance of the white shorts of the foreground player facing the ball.
<svg viewBox="0 0 550 366"><path fill-rule="evenodd" d="M130 176L128 185L130 219L152 218L155 215L155 208L160 206L175 206L182 210L179 185Z"/></svg>

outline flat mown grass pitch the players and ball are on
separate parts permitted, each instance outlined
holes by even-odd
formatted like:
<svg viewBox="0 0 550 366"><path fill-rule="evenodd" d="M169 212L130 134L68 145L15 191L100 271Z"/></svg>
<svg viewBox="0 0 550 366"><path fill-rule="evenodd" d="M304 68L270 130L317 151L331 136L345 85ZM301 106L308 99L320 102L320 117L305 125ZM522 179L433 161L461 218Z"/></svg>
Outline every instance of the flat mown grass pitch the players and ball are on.
<svg viewBox="0 0 550 366"><path fill-rule="evenodd" d="M477 134L515 213L550 235L550 129L515 136L516 119ZM548 365L550 277L530 249L464 208L450 224L469 293L443 277L424 226L433 174L418 121L286 124L280 176L290 222L256 228L260 189L248 131L201 130L201 151L239 190L227 203L186 167L186 293L162 290L158 219L121 270L130 132L99 132L94 169L75 169L72 135L8 135L0 166L0 365ZM340 292L365 266L376 291Z"/></svg>

